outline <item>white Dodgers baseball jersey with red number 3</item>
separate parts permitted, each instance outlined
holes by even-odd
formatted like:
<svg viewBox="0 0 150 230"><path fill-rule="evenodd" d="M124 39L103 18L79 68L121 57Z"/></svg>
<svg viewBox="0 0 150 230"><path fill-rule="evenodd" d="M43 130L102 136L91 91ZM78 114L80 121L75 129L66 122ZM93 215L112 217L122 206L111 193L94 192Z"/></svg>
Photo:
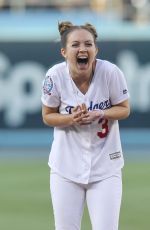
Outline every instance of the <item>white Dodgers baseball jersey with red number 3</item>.
<svg viewBox="0 0 150 230"><path fill-rule="evenodd" d="M83 94L72 80L66 62L50 68L43 82L42 103L71 113L78 104L88 110L105 110L129 98L120 69L97 59L92 82ZM124 159L117 120L100 119L90 125L54 128L49 166L72 181L87 184L114 175Z"/></svg>

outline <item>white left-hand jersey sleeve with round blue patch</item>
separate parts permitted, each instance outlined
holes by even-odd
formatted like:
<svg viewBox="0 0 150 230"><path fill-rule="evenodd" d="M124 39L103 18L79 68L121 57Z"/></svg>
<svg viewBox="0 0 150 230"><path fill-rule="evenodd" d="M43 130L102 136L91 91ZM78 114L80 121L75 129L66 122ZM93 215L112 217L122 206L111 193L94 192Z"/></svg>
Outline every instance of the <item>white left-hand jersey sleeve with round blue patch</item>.
<svg viewBox="0 0 150 230"><path fill-rule="evenodd" d="M46 75L43 80L41 101L48 107L59 107L60 105L56 79L51 74Z"/></svg>

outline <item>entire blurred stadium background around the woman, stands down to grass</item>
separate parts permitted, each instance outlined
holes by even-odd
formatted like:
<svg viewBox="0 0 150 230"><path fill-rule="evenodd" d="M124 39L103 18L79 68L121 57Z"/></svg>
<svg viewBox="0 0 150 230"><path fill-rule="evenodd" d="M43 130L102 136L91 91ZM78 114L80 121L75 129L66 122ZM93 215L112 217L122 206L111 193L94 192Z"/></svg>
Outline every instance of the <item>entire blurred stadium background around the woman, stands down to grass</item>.
<svg viewBox="0 0 150 230"><path fill-rule="evenodd" d="M0 0L0 228L54 229L47 160L53 129L41 119L41 83L62 61L58 21L90 22L99 58L124 72L131 115L120 122L125 156L121 230L149 228L150 2ZM90 230L87 209L82 230Z"/></svg>

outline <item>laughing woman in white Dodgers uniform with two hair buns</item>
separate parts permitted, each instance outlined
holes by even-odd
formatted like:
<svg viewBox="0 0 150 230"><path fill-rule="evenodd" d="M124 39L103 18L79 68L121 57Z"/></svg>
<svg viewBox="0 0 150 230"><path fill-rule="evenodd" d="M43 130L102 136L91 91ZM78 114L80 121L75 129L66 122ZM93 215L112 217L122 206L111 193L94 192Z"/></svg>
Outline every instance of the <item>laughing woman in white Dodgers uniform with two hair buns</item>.
<svg viewBox="0 0 150 230"><path fill-rule="evenodd" d="M93 230L117 230L124 164L118 120L129 116L120 69L97 59L91 24L59 24L65 62L46 74L42 116L54 127L49 156L56 230L79 230L87 202Z"/></svg>

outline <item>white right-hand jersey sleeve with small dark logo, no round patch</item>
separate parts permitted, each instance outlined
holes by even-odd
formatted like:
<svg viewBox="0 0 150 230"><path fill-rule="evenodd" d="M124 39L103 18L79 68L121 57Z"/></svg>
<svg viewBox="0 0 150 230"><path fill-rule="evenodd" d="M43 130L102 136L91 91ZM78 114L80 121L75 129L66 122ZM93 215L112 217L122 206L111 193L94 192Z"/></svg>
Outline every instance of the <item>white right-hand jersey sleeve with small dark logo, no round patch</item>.
<svg viewBox="0 0 150 230"><path fill-rule="evenodd" d="M117 66L115 66L110 76L109 93L112 105L119 104L129 98L126 79Z"/></svg>

